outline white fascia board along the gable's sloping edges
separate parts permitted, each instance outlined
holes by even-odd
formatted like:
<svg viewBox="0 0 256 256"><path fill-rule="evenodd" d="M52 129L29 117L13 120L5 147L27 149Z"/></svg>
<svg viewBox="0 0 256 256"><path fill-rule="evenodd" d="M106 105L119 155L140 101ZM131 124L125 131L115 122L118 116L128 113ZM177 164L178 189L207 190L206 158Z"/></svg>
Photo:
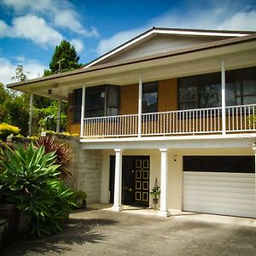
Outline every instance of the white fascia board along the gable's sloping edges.
<svg viewBox="0 0 256 256"><path fill-rule="evenodd" d="M109 52L107 55L103 55L101 58L97 59L96 61L91 62L90 64L88 64L87 66L83 67L83 68L87 68L87 67L91 67L93 65L95 65L97 62L103 61L106 58L110 57L111 55L114 55L116 53L118 53L120 50L125 49L129 46L131 46L132 44L137 43L138 41L142 40L143 38L147 38L148 36L152 35L152 34L170 34L170 35L188 35L188 36L207 36L207 37L234 37L234 38L240 38L240 37L244 37L247 36L249 34L240 34L240 33L226 33L226 32L187 32L187 31L174 31L174 30L152 30L149 31L146 34L143 34L141 37L139 38L135 38L134 40L132 40L131 42L124 44L123 46L120 46L119 48Z"/></svg>

